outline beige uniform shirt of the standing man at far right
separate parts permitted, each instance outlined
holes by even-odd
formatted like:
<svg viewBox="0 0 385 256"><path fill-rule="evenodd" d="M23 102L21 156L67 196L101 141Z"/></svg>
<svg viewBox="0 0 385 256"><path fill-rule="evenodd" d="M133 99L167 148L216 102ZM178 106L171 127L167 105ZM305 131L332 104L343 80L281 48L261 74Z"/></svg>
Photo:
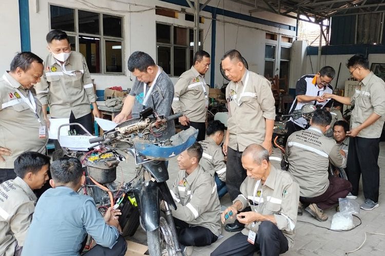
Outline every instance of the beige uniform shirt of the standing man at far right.
<svg viewBox="0 0 385 256"><path fill-rule="evenodd" d="M356 87L351 97L354 109L351 116L351 128L363 123L372 113L380 116L377 121L358 133L362 138L381 137L383 122L385 121L385 82L370 72Z"/></svg>

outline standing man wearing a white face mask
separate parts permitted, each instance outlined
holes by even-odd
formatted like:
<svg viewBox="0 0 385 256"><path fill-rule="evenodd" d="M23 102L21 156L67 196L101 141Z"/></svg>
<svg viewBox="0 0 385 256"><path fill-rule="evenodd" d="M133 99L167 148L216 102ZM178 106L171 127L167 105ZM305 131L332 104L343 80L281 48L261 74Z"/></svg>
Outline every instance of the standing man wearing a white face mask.
<svg viewBox="0 0 385 256"><path fill-rule="evenodd" d="M46 37L49 54L44 62L44 75L36 84L37 98L42 102L44 119L49 127L47 106L53 118L69 118L92 133L92 114L100 117L97 96L93 91L86 59L81 53L71 52L69 38L61 30L52 30ZM74 126L76 134L84 134ZM72 130L72 127L71 127Z"/></svg>

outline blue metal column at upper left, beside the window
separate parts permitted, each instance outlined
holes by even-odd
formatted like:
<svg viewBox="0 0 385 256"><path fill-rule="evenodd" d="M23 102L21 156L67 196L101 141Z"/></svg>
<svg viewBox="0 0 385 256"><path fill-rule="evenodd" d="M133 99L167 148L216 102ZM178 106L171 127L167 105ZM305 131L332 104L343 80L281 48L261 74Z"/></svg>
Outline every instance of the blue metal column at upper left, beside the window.
<svg viewBox="0 0 385 256"><path fill-rule="evenodd" d="M18 13L20 19L20 39L22 52L31 51L31 37L29 29L29 1L18 0Z"/></svg>

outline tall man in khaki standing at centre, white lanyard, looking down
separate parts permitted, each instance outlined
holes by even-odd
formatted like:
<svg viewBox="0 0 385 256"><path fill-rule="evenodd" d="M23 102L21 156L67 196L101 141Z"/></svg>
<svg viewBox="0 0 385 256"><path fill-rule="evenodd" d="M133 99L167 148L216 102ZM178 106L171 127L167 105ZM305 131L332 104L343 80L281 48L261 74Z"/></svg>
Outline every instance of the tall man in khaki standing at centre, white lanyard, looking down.
<svg viewBox="0 0 385 256"><path fill-rule="evenodd" d="M227 155L226 186L230 198L234 200L246 178L241 162L246 146L258 143L268 152L272 151L275 100L271 83L247 70L237 50L225 53L222 69L231 80L226 87L229 115L223 153Z"/></svg>

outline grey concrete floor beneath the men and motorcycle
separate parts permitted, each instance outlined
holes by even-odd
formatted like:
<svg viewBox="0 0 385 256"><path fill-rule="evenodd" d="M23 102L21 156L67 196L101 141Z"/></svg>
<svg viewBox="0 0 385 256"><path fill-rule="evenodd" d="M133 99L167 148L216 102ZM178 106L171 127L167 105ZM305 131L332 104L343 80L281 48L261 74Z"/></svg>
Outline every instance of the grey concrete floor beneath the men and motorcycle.
<svg viewBox="0 0 385 256"><path fill-rule="evenodd" d="M279 150L274 148L273 156L280 157ZM278 165L278 163L274 163ZM379 207L372 211L361 210L357 215L362 224L351 231L330 231L314 225L330 228L332 217L336 213L335 208L326 210L326 214L329 215L329 220L326 222L318 222L310 216L307 212L304 212L303 216L298 216L296 225L296 237L295 245L282 255L345 255L345 252L352 251L358 248L365 238L365 232L385 233L385 142L380 143L380 156L378 159L380 166L380 191L379 191ZM167 182L169 186L176 179L176 174L179 170L176 163L176 157L170 159L169 164L169 176L170 179ZM121 163L117 170L118 180L130 181L134 176L134 162L133 159L129 159L127 163ZM364 201L362 188L360 188L359 196L356 200L359 204ZM221 199L221 204L229 206L231 204L228 195L225 195ZM313 223L314 225L304 222ZM354 218L354 223L358 224L359 220ZM220 245L226 238L232 236L224 230L222 227L222 236L224 238L218 239L217 242L206 247L195 247L192 255L194 256L207 256L218 245ZM129 240L146 244L146 234L141 227ZM385 255L385 236L368 234L367 240L358 251L349 255Z"/></svg>

